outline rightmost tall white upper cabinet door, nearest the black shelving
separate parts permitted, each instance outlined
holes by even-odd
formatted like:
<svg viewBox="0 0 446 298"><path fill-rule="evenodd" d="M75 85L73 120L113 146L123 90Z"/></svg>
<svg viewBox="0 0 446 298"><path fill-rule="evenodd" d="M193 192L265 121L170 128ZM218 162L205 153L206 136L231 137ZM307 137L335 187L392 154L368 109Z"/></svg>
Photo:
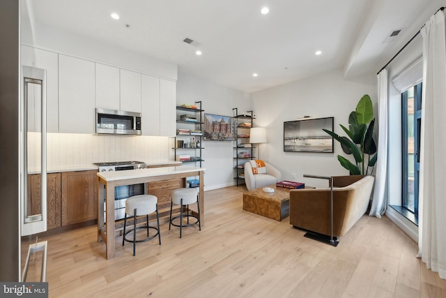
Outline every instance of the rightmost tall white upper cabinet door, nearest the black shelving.
<svg viewBox="0 0 446 298"><path fill-rule="evenodd" d="M176 135L176 82L160 79L160 135Z"/></svg>

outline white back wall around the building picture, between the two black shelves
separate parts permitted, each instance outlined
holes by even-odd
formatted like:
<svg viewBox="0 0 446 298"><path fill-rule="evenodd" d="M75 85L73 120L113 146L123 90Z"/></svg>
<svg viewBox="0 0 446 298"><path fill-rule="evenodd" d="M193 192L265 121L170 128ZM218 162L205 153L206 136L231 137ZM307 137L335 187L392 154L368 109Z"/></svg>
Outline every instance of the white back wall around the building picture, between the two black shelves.
<svg viewBox="0 0 446 298"><path fill-rule="evenodd" d="M217 85L209 80L178 73L176 103L192 104L201 100L207 114L233 116L233 108L239 112L250 110L249 94ZM206 190L231 186L233 177L233 142L203 141L202 167L206 168L204 187Z"/></svg>

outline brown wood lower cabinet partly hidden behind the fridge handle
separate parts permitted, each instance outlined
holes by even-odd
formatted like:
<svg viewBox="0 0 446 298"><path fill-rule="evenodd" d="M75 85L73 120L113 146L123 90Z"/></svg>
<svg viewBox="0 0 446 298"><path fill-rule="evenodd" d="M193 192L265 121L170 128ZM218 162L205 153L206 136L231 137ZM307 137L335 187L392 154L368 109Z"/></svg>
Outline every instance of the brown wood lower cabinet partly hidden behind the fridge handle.
<svg viewBox="0 0 446 298"><path fill-rule="evenodd" d="M41 210L40 174L28 175L28 215L40 214ZM61 226L61 173L47 174L47 229Z"/></svg>

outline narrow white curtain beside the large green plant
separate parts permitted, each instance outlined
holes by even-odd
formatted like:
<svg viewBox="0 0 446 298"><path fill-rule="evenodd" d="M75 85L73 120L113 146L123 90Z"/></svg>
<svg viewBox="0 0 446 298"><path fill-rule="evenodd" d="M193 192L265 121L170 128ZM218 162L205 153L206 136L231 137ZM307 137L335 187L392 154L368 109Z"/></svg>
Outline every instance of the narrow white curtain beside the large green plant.
<svg viewBox="0 0 446 298"><path fill-rule="evenodd" d="M387 207L387 69L378 73L378 160L374 198L371 201L370 216L381 217Z"/></svg>

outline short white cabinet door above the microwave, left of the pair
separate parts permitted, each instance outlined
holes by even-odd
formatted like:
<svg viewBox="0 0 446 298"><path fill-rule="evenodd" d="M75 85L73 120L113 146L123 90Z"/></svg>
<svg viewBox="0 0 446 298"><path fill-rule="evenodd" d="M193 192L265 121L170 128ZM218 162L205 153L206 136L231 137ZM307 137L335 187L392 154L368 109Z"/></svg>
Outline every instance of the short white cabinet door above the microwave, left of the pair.
<svg viewBox="0 0 446 298"><path fill-rule="evenodd" d="M96 64L96 107L120 110L119 68Z"/></svg>

